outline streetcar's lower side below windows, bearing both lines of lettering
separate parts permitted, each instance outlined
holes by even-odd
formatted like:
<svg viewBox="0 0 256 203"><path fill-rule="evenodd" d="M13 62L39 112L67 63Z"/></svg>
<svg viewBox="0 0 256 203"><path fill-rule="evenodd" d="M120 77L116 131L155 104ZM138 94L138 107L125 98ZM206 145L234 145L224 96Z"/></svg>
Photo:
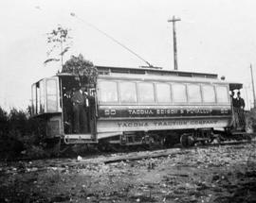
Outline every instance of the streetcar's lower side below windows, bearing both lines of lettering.
<svg viewBox="0 0 256 203"><path fill-rule="evenodd" d="M101 106L99 115L97 124L99 133L228 127L231 121L229 106Z"/></svg>

